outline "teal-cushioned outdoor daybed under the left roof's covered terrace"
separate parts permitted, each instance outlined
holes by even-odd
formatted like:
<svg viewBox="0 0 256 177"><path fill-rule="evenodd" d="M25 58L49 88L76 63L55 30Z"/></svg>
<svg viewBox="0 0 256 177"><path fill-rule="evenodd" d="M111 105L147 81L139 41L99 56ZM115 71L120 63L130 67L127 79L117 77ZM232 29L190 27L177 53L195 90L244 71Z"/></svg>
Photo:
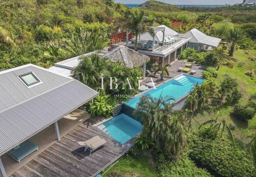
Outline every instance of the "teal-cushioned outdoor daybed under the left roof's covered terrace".
<svg viewBox="0 0 256 177"><path fill-rule="evenodd" d="M8 151L7 154L9 154L13 159L20 163L21 159L23 159L35 150L38 151L38 146L30 142L29 140L26 140Z"/></svg>

